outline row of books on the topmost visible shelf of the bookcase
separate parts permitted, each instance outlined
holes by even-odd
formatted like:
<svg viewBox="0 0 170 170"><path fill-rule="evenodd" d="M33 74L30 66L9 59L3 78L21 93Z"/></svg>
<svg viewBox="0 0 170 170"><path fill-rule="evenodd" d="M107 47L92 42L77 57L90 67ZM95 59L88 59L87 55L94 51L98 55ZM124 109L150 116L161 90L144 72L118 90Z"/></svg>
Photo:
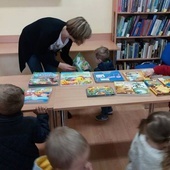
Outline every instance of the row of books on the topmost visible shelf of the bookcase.
<svg viewBox="0 0 170 170"><path fill-rule="evenodd" d="M170 0L118 0L118 12L167 12Z"/></svg>

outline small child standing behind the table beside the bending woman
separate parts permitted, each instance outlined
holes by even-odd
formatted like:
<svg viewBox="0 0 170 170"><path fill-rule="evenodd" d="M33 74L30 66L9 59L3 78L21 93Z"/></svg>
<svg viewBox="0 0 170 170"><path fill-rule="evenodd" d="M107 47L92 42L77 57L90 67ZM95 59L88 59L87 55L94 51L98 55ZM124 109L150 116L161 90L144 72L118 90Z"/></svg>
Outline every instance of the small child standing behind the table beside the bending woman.
<svg viewBox="0 0 170 170"><path fill-rule="evenodd" d="M110 60L109 49L106 47L99 47L95 50L97 68L94 71L109 71L114 70L113 61ZM108 115L111 115L113 110L111 106L102 107L101 114L96 116L96 120L105 121L108 119Z"/></svg>

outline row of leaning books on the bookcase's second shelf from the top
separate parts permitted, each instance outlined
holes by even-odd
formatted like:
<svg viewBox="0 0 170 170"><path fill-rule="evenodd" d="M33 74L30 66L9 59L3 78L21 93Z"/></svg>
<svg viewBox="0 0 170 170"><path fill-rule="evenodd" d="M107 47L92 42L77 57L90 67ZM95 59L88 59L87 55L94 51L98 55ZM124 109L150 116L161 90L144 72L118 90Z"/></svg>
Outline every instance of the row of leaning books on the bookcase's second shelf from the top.
<svg viewBox="0 0 170 170"><path fill-rule="evenodd" d="M118 37L161 35L170 35L170 19L168 16L135 15L118 17Z"/></svg>

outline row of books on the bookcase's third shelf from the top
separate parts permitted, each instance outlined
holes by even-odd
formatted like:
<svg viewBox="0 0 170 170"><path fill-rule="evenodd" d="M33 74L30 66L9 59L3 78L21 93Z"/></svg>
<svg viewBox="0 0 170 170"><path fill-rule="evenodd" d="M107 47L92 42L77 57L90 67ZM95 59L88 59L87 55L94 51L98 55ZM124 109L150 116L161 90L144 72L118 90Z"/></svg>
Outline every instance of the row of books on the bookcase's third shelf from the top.
<svg viewBox="0 0 170 170"><path fill-rule="evenodd" d="M117 60L130 58L161 58L162 51L166 44L166 39L154 39L150 42L130 42L124 40L117 43L117 46L121 49L117 51Z"/></svg>

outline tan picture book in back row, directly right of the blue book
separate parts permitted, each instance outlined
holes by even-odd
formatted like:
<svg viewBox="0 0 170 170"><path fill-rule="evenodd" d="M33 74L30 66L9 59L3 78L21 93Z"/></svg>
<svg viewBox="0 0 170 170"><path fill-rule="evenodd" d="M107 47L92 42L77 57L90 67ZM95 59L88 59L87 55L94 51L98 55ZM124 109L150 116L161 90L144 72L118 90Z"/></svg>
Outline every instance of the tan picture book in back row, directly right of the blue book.
<svg viewBox="0 0 170 170"><path fill-rule="evenodd" d="M127 81L144 81L146 79L149 79L144 76L144 73L142 71L125 71L122 72L123 76Z"/></svg>

